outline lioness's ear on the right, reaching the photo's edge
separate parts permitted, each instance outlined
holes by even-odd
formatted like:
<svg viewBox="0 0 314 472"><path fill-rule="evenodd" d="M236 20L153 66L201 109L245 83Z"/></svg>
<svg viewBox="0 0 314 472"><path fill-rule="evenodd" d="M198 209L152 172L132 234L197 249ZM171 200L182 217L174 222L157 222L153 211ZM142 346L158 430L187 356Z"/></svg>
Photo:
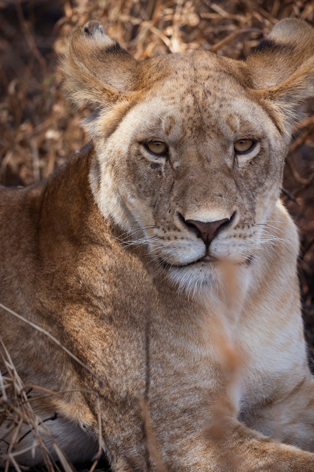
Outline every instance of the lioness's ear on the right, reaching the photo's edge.
<svg viewBox="0 0 314 472"><path fill-rule="evenodd" d="M303 116L314 96L314 29L303 20L281 20L246 60L255 94L282 132Z"/></svg>

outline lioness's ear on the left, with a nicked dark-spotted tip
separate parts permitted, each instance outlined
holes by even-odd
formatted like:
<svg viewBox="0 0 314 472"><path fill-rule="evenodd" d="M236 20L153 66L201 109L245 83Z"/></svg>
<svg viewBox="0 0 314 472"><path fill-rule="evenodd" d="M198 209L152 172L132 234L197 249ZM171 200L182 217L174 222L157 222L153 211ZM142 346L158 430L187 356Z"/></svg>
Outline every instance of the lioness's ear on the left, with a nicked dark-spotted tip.
<svg viewBox="0 0 314 472"><path fill-rule="evenodd" d="M130 95L137 64L118 42L104 34L99 21L92 20L71 35L61 70L74 100L106 107Z"/></svg>

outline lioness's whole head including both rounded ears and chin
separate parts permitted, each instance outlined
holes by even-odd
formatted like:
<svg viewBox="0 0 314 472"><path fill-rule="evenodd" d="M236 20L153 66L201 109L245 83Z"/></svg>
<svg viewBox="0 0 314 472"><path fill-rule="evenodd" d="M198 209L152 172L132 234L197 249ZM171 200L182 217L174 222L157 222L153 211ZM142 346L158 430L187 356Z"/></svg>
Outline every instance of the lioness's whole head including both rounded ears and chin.
<svg viewBox="0 0 314 472"><path fill-rule="evenodd" d="M246 62L207 51L137 62L99 22L76 29L63 70L73 97L96 105L85 126L103 215L186 283L209 280L217 259L252 260L272 237L264 223L313 94L313 51L296 19Z"/></svg>

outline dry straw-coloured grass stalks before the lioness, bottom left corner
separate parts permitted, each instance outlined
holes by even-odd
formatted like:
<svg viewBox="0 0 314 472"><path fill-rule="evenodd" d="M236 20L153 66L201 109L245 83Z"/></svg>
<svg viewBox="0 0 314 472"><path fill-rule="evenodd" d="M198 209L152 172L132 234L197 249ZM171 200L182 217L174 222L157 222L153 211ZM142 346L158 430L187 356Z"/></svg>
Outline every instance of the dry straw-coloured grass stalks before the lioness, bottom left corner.
<svg viewBox="0 0 314 472"><path fill-rule="evenodd" d="M19 320L31 325L37 331L42 332L52 342L54 342L60 349L65 351L68 356L72 357L78 364L80 364L89 374L91 374L99 383L102 388L102 380L97 377L88 367L83 364L79 359L76 358L65 346L50 333L34 325L31 321L26 320L23 316L16 312L13 312L9 308L5 307L0 303L0 307L8 312L10 315L17 317ZM49 428L45 425L46 421L54 421L57 419L57 413L49 418L42 419L36 414L32 408L32 402L45 398L47 396L56 396L63 398L64 394L71 392L77 392L78 390L67 390L62 392L52 392L47 388L38 385L27 384L25 385L22 379L19 377L18 372L12 362L10 354L0 336L0 358L2 359L1 364L4 365L4 371L0 371L0 426L5 421L7 424L6 434L0 438L0 468L4 467L4 471L8 472L10 466L18 472L28 470L19 464L19 456L25 452L31 450L32 455L35 454L36 448L39 449L40 455L42 456L42 462L45 464L46 469L49 472L64 470L65 472L73 472L75 468L68 460L68 457L62 451L60 445L52 437ZM35 393L34 392L40 392ZM93 464L89 469L89 472L95 470L96 465L102 456L102 424L101 424L101 410L99 395L96 392L85 390L85 393L89 393L96 396L96 402L98 406L98 428L99 428L99 448L97 454L93 457ZM26 431L25 431L26 429ZM18 444L28 434L33 436L32 445L23 448L17 452ZM47 442L52 444L53 450L58 457L58 464L52 459L51 454L47 448ZM3 444L5 450L3 451Z"/></svg>

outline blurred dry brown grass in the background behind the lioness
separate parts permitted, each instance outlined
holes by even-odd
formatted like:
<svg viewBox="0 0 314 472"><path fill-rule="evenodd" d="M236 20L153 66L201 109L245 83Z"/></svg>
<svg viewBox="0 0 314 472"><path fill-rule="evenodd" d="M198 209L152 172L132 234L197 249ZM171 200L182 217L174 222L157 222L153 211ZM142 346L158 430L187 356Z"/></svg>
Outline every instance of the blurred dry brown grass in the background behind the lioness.
<svg viewBox="0 0 314 472"><path fill-rule="evenodd" d="M245 59L281 18L313 25L303 0L0 0L0 182L30 185L89 141L62 91L58 54L78 24L99 19L135 55L205 49ZM314 102L295 131L282 199L299 228L300 286L314 371ZM3 223L0 223L3 224Z"/></svg>

